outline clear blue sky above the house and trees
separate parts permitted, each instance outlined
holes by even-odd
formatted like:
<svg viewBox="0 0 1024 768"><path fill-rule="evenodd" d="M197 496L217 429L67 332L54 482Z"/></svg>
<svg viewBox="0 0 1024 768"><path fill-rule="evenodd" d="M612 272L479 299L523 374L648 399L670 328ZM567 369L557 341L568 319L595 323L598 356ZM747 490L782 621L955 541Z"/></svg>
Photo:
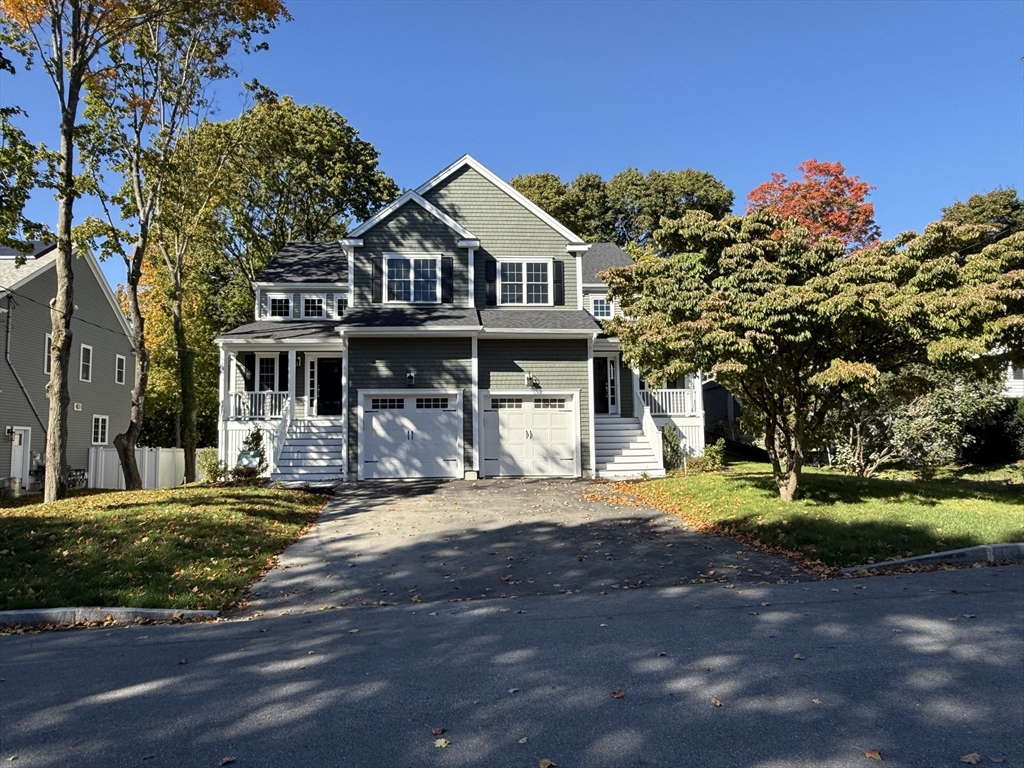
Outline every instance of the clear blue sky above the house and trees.
<svg viewBox="0 0 1024 768"><path fill-rule="evenodd" d="M975 193L1024 191L1020 0L288 7L270 49L238 57L242 79L344 115L403 188L465 153L506 179L696 168L739 212L772 171L816 158L876 186L887 238ZM217 93L237 116L238 83ZM55 144L38 67L0 75L0 103ZM56 219L46 194L30 213ZM115 284L122 270L104 265Z"/></svg>

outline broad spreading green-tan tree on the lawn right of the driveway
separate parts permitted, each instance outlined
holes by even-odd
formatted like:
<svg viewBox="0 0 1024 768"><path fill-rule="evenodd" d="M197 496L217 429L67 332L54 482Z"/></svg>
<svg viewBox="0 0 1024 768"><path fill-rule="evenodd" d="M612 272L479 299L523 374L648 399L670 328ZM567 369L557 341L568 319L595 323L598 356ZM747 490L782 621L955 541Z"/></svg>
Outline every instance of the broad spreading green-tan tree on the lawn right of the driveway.
<svg viewBox="0 0 1024 768"><path fill-rule="evenodd" d="M829 416L880 375L916 362L980 376L1004 365L990 350L1021 348L1024 236L979 249L982 234L937 223L847 254L769 209L690 211L656 237L676 255L606 273L626 314L606 326L646 378L706 371L740 396L792 499Z"/></svg>

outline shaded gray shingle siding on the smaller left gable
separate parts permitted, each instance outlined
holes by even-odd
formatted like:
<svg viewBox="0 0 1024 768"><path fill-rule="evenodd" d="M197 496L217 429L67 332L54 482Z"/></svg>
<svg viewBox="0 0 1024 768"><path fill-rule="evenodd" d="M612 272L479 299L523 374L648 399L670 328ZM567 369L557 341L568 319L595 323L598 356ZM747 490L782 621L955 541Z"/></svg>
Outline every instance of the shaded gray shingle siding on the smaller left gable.
<svg viewBox="0 0 1024 768"><path fill-rule="evenodd" d="M362 247L355 249L353 305L371 305L371 259L385 253L439 253L455 258L453 270L456 306L465 306L469 293L467 251L459 248L459 234L416 203L407 203L393 215L362 236Z"/></svg>

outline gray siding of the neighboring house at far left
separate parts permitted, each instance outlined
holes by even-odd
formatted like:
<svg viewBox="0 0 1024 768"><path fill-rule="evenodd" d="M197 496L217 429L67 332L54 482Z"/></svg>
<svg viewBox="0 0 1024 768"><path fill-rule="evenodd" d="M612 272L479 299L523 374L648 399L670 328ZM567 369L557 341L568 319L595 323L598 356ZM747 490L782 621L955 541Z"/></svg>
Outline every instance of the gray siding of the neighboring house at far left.
<svg viewBox="0 0 1024 768"><path fill-rule="evenodd" d="M131 342L125 335L114 308L96 282L89 265L82 259L74 262L75 304L72 316L72 351L69 366L69 390L72 406L68 412L68 464L75 469L88 466L92 446L92 417L109 417L108 446L114 435L128 426L131 412L131 388L135 379L135 358ZM53 267L41 270L33 280L17 289L15 306L0 316L0 334L7 338L10 324L9 352L11 364L25 384L43 425L49 413L44 373L45 338L50 330L48 302L56 293L56 272ZM8 299L0 306L8 307ZM0 342L2 343L2 342ZM92 347L92 381L80 381L82 344ZM116 355L125 358L125 383L115 382ZM74 403L81 403L76 411ZM20 386L7 364L0 356L0 427L32 428L31 452L45 454L46 429L33 414ZM10 472L10 443L0 440L0 477Z"/></svg>

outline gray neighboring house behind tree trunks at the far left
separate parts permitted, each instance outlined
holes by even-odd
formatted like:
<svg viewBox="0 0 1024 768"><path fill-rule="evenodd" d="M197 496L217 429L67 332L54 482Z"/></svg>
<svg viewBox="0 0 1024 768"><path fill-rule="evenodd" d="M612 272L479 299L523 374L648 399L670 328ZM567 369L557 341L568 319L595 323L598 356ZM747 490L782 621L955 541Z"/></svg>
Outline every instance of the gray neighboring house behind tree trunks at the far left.
<svg viewBox="0 0 1024 768"><path fill-rule="evenodd" d="M56 247L23 254L0 248L0 478L41 485L50 378L50 309L56 295ZM128 425L135 377L130 332L99 264L88 252L74 262L75 311L69 366L68 466L83 482L89 450L111 445Z"/></svg>

